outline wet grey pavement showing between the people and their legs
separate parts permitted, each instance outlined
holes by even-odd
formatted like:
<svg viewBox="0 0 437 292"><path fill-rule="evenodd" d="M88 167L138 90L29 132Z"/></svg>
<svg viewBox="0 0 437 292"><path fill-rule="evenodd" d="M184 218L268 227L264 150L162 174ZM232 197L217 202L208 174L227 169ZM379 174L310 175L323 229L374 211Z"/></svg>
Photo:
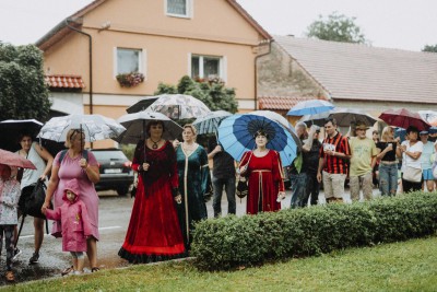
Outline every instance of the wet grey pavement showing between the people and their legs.
<svg viewBox="0 0 437 292"><path fill-rule="evenodd" d="M376 192L376 191L374 191ZM282 208L290 208L291 191L286 191L286 198L282 201ZM129 224L130 213L133 205L133 198L118 197L116 192L99 192L99 231L101 241L97 243L98 266L101 269L114 269L129 266L129 262L118 257L117 253L123 243L126 231ZM246 212L246 199L237 198L237 215ZM322 192L320 201L324 202ZM213 217L212 200L206 202L209 218ZM222 197L223 215L227 213L226 196ZM49 230L51 221L49 221ZM61 238L55 238L51 235L45 235L43 247L39 252L39 261L29 265L28 259L33 254L33 218L27 217L19 240L19 248L23 252L13 269L16 282L25 282L47 278L60 278L61 271L71 266L69 253L62 252ZM5 252L4 245L1 255L0 265L0 287L7 284L5 273ZM85 257L85 267L88 262ZM85 272L90 272L86 268Z"/></svg>

